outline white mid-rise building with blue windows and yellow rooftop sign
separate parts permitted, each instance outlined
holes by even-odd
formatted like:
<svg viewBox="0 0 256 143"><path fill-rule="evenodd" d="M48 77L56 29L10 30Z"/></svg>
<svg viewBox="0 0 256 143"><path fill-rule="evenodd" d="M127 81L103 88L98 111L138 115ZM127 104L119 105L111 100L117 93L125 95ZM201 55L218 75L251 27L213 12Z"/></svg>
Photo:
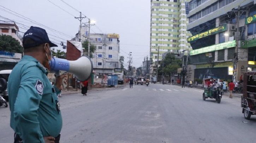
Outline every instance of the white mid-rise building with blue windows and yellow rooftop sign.
<svg viewBox="0 0 256 143"><path fill-rule="evenodd" d="M95 74L112 74L114 69L121 69L119 42L119 34L90 34L90 43L96 46L91 59Z"/></svg>

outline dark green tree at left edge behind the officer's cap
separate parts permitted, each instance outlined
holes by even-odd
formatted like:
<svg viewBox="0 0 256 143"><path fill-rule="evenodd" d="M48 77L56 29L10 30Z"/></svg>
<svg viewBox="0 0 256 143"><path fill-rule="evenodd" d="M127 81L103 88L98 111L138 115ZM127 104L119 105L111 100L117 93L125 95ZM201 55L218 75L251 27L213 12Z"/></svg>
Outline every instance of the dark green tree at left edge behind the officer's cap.
<svg viewBox="0 0 256 143"><path fill-rule="evenodd" d="M0 35L0 51L23 53L23 47L10 35Z"/></svg>

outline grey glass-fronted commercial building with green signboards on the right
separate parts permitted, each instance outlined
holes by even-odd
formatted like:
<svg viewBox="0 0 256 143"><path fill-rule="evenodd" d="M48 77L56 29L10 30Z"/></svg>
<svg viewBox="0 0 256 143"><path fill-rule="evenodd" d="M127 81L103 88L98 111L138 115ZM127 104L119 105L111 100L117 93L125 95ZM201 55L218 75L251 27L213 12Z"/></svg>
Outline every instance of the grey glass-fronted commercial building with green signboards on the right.
<svg viewBox="0 0 256 143"><path fill-rule="evenodd" d="M238 80L255 70L254 0L191 0L186 7L195 78Z"/></svg>

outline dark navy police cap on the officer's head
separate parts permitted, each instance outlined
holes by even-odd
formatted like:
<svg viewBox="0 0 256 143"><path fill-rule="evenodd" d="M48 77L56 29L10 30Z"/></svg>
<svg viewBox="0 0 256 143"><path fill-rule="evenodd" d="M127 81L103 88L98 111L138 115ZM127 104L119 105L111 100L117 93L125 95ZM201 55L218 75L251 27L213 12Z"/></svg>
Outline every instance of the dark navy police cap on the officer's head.
<svg viewBox="0 0 256 143"><path fill-rule="evenodd" d="M35 41L35 43L24 45L24 41L25 41L26 38L31 38L32 40ZM43 28L34 27L34 26L31 26L29 28L29 30L24 33L22 43L23 43L24 48L35 47L35 46L39 46L39 45L44 44L44 43L49 43L50 47L58 47L56 44L53 44L49 40L47 32Z"/></svg>

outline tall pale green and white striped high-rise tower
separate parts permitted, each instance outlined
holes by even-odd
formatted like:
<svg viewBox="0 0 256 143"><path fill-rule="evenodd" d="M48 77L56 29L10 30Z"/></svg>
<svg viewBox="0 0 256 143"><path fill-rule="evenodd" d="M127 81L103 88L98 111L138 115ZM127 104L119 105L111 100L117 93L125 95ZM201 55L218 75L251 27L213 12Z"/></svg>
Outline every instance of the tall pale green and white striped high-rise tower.
<svg viewBox="0 0 256 143"><path fill-rule="evenodd" d="M154 73L153 69L156 70L156 66L152 64L156 64L157 59L161 60L163 53L181 53L190 49L190 44L187 43L190 33L186 30L186 1L151 0L150 73Z"/></svg>

